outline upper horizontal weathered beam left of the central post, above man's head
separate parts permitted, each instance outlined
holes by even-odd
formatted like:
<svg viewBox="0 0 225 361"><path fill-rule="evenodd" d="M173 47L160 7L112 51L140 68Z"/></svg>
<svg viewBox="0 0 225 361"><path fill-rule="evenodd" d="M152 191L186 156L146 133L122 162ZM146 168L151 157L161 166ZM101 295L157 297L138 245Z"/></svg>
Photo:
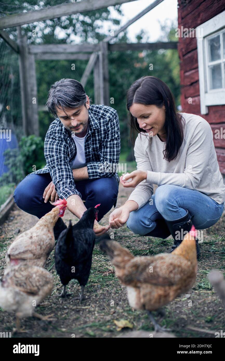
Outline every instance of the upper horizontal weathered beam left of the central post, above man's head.
<svg viewBox="0 0 225 361"><path fill-rule="evenodd" d="M84 1L84 0L83 0ZM46 44L30 45L29 52L36 53L93 53L99 51L99 44Z"/></svg>

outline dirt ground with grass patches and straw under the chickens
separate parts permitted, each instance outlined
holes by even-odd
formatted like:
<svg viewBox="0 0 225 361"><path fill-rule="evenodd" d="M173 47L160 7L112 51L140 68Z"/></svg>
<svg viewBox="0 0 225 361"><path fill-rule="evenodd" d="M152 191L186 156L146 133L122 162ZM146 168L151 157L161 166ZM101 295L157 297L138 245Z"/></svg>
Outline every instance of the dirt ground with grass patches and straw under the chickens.
<svg viewBox="0 0 225 361"><path fill-rule="evenodd" d="M131 188L119 188L117 206L125 203ZM101 225L108 224L109 214L100 221ZM176 337L181 338L214 338L215 332L225 330L225 309L213 291L207 274L212 269L219 269L225 273L225 216L208 230L203 231L204 240L200 244L202 256L198 262L196 282L190 292L175 299L165 307L166 316L160 320L161 326L172 329ZM75 223L78 219L68 210L64 221L68 225L69 219ZM32 227L38 218L20 210L16 205L10 212L7 221L0 227L0 277L5 269L5 253L10 243L18 234ZM134 235L126 225L114 232L114 240L129 248L135 256L156 255L168 252L173 243L172 236L166 240L149 236ZM130 308L126 288L121 286L114 275L114 268L96 244L93 253L92 269L86 286L87 299L80 305L75 299L79 293L79 284L72 280L68 285L68 292L72 297L62 299L55 297L61 293L62 286L54 265L54 251L48 258L46 269L53 275L54 288L52 295L37 307L37 312L53 314L53 320L46 322L34 317L23 319L21 326L28 332L16 334L13 337L117 337L127 332L127 328L117 330L116 321L126 320L131 323L133 331L143 330L151 332L153 325L147 314ZM192 306L190 305L192 301ZM15 316L0 309L1 332L11 332L15 327ZM194 328L194 329L193 329ZM203 331L199 331L201 329Z"/></svg>

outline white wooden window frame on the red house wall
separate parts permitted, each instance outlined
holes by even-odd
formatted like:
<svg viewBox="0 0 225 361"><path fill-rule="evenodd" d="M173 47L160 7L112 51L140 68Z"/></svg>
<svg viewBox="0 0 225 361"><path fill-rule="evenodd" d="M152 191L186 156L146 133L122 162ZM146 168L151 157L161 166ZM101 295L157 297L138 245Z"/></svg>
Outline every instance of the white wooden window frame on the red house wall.
<svg viewBox="0 0 225 361"><path fill-rule="evenodd" d="M225 11L196 28L196 34L203 34L203 38L197 37L201 114L207 114L210 105L225 104L225 88L209 89L207 44L207 39L211 35L216 35L223 29L225 30ZM224 84L224 75L222 75L222 82Z"/></svg>

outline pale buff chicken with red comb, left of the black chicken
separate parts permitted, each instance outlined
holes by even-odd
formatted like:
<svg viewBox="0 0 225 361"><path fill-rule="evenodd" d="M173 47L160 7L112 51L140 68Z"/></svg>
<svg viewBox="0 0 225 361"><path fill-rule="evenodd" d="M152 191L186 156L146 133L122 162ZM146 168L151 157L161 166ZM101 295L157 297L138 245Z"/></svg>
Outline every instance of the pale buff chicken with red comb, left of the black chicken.
<svg viewBox="0 0 225 361"><path fill-rule="evenodd" d="M16 237L6 254L7 265L33 265L44 267L55 246L53 227L64 216L66 200L57 200L55 208L45 214L34 227Z"/></svg>

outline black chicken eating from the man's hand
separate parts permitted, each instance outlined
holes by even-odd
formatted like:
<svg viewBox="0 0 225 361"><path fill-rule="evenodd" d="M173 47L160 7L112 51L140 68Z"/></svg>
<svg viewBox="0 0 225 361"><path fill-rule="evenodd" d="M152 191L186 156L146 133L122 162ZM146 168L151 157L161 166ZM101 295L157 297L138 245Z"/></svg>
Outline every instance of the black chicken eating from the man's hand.
<svg viewBox="0 0 225 361"><path fill-rule="evenodd" d="M72 226L70 220L68 228L60 233L55 249L56 271L64 286L61 296L66 296L66 285L75 278L81 286L80 303L84 299L84 288L91 270L95 245L93 227L95 219L98 220L97 206L88 208L75 225Z"/></svg>

